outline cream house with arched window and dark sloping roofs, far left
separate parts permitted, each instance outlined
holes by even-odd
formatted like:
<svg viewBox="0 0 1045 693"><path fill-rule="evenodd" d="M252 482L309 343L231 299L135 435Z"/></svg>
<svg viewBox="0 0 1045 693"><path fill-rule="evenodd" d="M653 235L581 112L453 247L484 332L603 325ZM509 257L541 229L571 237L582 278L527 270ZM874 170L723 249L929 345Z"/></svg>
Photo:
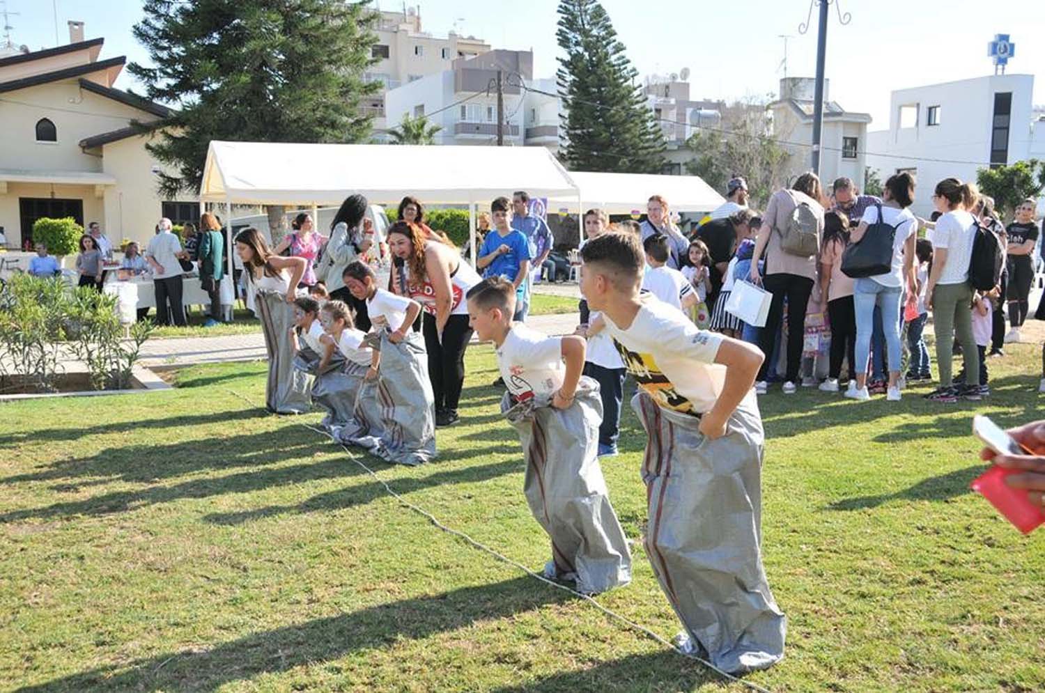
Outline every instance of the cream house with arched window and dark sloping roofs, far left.
<svg viewBox="0 0 1045 693"><path fill-rule="evenodd" d="M191 201L164 201L157 162L145 149L165 107L113 88L126 57L99 60L102 39L0 59L0 227L7 246L31 248L42 216L99 222L118 245L145 240L160 216L199 221Z"/></svg>

